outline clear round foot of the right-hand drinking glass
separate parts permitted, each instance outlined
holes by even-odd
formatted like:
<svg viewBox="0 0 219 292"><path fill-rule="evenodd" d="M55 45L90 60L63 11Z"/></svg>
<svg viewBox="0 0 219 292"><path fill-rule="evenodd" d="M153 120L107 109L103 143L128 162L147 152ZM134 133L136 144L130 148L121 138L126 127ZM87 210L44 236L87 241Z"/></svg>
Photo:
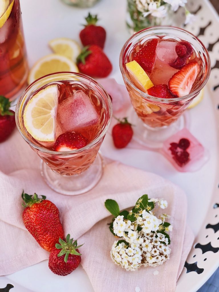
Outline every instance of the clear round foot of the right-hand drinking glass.
<svg viewBox="0 0 219 292"><path fill-rule="evenodd" d="M170 136L183 128L189 128L189 118L186 112L174 123L160 128L152 128L143 123L133 107L130 108L127 116L128 121L134 125L133 139L149 149L162 148L163 142Z"/></svg>

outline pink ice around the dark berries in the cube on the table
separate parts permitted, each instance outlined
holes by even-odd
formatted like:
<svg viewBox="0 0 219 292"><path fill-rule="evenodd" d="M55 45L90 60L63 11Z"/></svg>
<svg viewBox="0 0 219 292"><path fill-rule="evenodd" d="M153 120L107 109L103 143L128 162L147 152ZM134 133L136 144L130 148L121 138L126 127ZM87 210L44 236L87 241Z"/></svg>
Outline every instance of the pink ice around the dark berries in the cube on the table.
<svg viewBox="0 0 219 292"><path fill-rule="evenodd" d="M180 147L177 147L178 151L187 152L188 160L185 162L183 166L180 166L176 160L174 159L175 154L173 154L170 150L171 143L179 143L180 139L186 138L189 140L190 145L185 150L182 150ZM161 150L162 154L173 164L173 166L181 172L187 171L197 171L199 170L204 163L208 160L207 152L201 143L190 133L186 128L182 129L178 133L172 135L168 138L163 145L163 149Z"/></svg>

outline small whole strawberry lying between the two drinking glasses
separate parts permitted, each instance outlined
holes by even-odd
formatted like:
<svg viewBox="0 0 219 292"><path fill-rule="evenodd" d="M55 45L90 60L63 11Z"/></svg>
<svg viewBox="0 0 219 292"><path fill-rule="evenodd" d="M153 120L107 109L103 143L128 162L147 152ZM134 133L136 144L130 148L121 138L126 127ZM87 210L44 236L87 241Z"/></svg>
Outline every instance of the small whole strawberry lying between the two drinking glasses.
<svg viewBox="0 0 219 292"><path fill-rule="evenodd" d="M112 138L116 148L124 148L131 141L133 130L127 118L118 121L119 123L112 128Z"/></svg>

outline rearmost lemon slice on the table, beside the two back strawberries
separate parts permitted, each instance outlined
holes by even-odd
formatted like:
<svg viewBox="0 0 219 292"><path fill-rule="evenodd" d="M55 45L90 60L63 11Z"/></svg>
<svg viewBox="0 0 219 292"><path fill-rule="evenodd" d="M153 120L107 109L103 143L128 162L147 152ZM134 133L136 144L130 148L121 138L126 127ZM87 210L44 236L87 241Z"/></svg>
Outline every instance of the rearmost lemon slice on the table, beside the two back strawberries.
<svg viewBox="0 0 219 292"><path fill-rule="evenodd" d="M81 48L77 41L68 38L57 38L49 41L49 46L54 53L60 54L76 62L77 56L81 53Z"/></svg>

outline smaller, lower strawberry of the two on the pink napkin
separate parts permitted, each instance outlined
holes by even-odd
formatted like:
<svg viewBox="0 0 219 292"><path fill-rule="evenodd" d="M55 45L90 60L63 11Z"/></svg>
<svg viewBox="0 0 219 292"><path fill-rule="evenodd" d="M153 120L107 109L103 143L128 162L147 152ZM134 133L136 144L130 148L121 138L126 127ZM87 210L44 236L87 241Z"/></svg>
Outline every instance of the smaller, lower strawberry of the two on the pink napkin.
<svg viewBox="0 0 219 292"><path fill-rule="evenodd" d="M70 234L66 236L66 241L59 239L60 244L55 244L49 255L49 268L57 275L66 276L73 272L81 263L81 253L77 246L77 240L73 242ZM61 251L60 251L61 249Z"/></svg>

